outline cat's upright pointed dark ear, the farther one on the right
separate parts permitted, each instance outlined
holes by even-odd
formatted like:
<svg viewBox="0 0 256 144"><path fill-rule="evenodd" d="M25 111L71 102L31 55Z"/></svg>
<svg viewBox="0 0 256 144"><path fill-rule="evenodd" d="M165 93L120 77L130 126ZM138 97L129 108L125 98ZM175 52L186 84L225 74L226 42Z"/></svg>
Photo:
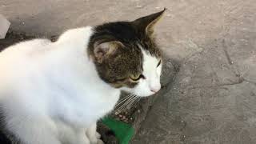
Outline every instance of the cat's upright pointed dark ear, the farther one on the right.
<svg viewBox="0 0 256 144"><path fill-rule="evenodd" d="M155 24L162 18L162 15L166 11L166 8L164 10L150 14L146 17L138 18L133 23L135 27L137 27L138 30L143 30L146 34L153 34L154 33L154 26Z"/></svg>

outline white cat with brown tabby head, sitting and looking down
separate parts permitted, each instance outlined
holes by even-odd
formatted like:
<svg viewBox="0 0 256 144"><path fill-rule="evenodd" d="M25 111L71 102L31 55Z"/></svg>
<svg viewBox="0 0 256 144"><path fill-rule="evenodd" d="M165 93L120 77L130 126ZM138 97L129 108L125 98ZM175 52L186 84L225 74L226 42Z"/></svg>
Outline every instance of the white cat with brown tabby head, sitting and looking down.
<svg viewBox="0 0 256 144"><path fill-rule="evenodd" d="M96 122L114 109L122 90L146 97L161 89L154 26L165 10L2 50L1 132L12 143L103 143Z"/></svg>

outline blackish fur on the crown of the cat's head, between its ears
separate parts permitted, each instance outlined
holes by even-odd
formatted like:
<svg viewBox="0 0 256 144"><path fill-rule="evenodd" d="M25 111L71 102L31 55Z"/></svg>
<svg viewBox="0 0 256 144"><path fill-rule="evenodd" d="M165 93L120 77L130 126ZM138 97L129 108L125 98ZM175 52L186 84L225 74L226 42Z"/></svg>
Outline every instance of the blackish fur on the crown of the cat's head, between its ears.
<svg viewBox="0 0 256 144"><path fill-rule="evenodd" d="M94 38L106 38L107 41L122 42L129 49L137 49L138 46L157 58L161 57L161 51L155 44L151 35L136 30L130 22L110 22L95 27Z"/></svg>

